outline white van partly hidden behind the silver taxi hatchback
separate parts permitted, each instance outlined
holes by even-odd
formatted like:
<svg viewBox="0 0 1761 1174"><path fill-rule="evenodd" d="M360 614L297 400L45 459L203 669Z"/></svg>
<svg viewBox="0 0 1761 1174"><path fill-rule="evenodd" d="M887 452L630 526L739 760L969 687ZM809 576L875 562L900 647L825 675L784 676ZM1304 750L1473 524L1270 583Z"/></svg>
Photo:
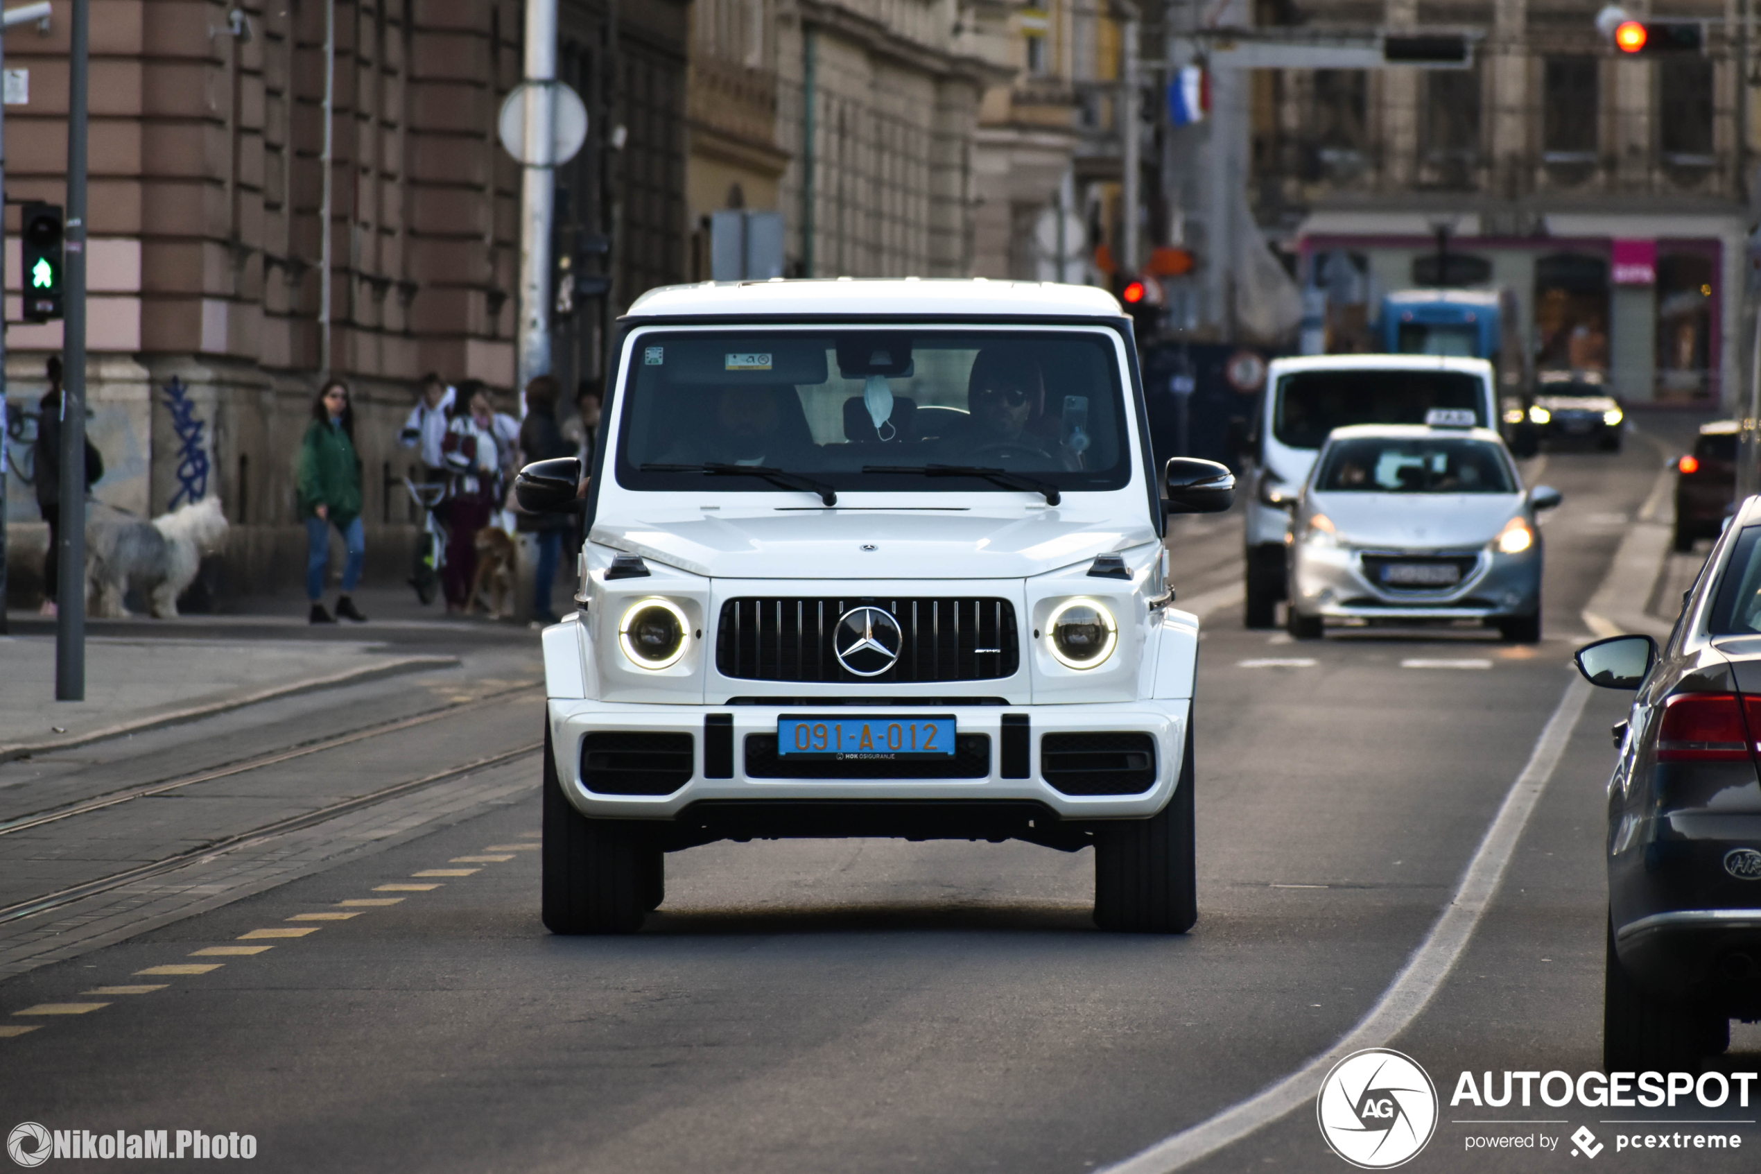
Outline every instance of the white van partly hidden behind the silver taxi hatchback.
<svg viewBox="0 0 1761 1174"><path fill-rule="evenodd" d="M1497 384L1485 359L1351 354L1273 359L1249 438L1247 607L1250 628L1270 628L1284 598L1286 502L1301 491L1315 454L1347 424L1423 424L1433 408L1470 410L1476 428L1499 428ZM1465 422L1465 421L1463 421Z"/></svg>

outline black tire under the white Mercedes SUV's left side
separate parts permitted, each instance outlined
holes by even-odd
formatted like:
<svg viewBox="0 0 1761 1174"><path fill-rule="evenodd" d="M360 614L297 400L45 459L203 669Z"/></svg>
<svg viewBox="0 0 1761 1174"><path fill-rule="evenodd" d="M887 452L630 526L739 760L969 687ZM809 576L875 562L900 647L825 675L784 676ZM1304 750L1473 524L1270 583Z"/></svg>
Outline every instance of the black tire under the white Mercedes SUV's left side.
<svg viewBox="0 0 1761 1174"><path fill-rule="evenodd" d="M664 861L632 820L586 818L562 794L544 727L542 921L551 933L634 933L664 898Z"/></svg>

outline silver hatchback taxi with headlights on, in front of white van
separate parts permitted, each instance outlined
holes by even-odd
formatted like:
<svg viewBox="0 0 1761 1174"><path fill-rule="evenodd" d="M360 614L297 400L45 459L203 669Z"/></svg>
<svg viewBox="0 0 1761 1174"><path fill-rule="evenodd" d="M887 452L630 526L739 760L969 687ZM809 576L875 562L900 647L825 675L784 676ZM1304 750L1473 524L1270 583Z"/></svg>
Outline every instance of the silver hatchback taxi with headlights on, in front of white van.
<svg viewBox="0 0 1761 1174"><path fill-rule="evenodd" d="M1328 437L1291 503L1293 637L1319 639L1328 620L1477 620L1507 641L1541 639L1536 514L1560 495L1523 491L1499 433L1444 424Z"/></svg>

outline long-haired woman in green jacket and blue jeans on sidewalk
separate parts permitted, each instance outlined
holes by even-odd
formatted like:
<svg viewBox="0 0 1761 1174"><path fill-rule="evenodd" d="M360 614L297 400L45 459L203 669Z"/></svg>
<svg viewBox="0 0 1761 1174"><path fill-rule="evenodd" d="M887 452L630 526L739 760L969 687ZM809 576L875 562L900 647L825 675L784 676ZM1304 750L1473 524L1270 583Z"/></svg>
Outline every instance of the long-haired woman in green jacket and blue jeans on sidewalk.
<svg viewBox="0 0 1761 1174"><path fill-rule="evenodd" d="M299 514L306 519L306 598L312 600L312 623L366 623L350 597L361 583L361 563L366 561L366 532L361 526L361 458L354 451L354 403L340 378L324 384L312 401L312 422L299 444L298 486ZM322 604L333 526L347 553L335 618Z"/></svg>

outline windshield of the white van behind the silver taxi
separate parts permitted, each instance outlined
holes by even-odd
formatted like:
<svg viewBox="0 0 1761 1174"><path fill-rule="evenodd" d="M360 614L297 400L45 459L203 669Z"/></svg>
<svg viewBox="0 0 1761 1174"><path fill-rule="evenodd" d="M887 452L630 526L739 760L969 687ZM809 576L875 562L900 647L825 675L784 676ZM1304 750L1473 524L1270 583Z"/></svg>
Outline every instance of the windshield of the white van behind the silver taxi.
<svg viewBox="0 0 1761 1174"><path fill-rule="evenodd" d="M1465 371L1296 371L1278 380L1271 435L1319 449L1347 424L1423 424L1432 408L1469 408L1486 426L1483 384Z"/></svg>

